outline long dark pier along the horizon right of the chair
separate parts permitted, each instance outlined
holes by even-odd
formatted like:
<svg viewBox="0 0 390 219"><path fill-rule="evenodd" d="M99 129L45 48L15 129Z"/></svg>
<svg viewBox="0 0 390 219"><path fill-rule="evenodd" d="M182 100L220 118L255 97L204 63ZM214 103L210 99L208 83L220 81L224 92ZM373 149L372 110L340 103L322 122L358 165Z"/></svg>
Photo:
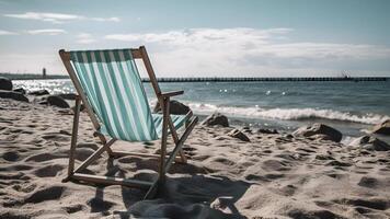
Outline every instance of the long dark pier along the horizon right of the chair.
<svg viewBox="0 0 390 219"><path fill-rule="evenodd" d="M144 78L144 82L149 79ZM290 78L158 78L159 82L248 82L248 81L390 81L389 77L290 77Z"/></svg>

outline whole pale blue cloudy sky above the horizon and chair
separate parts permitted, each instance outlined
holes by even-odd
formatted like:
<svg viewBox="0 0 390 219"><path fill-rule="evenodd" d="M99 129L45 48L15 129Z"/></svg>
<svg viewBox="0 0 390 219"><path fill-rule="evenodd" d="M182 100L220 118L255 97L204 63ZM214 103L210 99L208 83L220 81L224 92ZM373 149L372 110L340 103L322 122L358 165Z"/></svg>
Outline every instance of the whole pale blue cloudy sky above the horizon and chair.
<svg viewBox="0 0 390 219"><path fill-rule="evenodd" d="M390 77L388 0L0 0L0 72L145 45L158 77ZM139 64L140 65L140 64Z"/></svg>

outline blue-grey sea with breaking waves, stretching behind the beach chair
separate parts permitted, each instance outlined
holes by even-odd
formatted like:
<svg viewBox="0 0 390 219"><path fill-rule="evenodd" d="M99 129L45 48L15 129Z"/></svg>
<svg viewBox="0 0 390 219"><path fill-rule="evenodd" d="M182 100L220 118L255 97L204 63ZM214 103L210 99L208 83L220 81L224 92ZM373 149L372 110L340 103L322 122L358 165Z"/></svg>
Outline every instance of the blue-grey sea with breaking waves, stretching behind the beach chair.
<svg viewBox="0 0 390 219"><path fill-rule="evenodd" d="M68 79L18 80L16 88L46 89L53 94L73 93ZM264 82L163 82L162 91L184 90L176 100L200 118L215 112L228 116L232 126L269 128L290 132L323 123L343 132L344 142L363 136L390 119L390 81L264 81ZM157 102L145 82L151 107ZM390 142L389 138L380 137Z"/></svg>

